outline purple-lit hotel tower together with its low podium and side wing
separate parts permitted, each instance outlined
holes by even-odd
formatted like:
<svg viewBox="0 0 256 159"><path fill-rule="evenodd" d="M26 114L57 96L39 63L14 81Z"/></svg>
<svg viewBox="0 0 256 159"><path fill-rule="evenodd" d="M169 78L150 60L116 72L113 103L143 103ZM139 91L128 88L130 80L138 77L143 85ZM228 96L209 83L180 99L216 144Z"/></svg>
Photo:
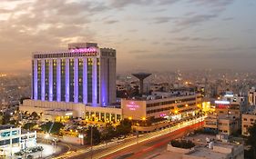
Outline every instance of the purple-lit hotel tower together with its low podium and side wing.
<svg viewBox="0 0 256 159"><path fill-rule="evenodd" d="M70 44L66 51L36 52L32 73L31 99L19 110L42 114L41 120L62 121L73 116L103 123L118 123L123 118L144 123L199 113L200 94L187 92L178 96L159 92L147 99L122 99L117 104L116 50L94 43ZM149 129L156 127L146 131Z"/></svg>

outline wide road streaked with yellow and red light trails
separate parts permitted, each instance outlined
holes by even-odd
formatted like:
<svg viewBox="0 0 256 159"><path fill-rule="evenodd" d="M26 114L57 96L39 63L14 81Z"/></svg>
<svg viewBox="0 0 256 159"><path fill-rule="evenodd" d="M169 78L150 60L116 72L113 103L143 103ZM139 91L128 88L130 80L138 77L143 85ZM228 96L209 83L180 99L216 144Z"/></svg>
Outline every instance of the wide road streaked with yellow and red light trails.
<svg viewBox="0 0 256 159"><path fill-rule="evenodd" d="M170 140L183 136L184 134L192 131L192 128L198 128L200 121L203 121L203 117L187 121L175 126L162 129L149 134L141 134L137 138L136 136L132 138L125 139L117 142L112 142L108 145L98 144L93 148L93 156L91 155L90 148L80 149L77 152L68 151L66 154L56 157L56 159L87 159L87 158L134 158L133 156L140 156L141 154L146 154L149 150L155 150L158 147L162 148L169 143ZM193 125L193 126L192 126ZM165 145L164 145L165 144ZM152 151L150 151L151 153ZM142 156L143 158L143 156Z"/></svg>

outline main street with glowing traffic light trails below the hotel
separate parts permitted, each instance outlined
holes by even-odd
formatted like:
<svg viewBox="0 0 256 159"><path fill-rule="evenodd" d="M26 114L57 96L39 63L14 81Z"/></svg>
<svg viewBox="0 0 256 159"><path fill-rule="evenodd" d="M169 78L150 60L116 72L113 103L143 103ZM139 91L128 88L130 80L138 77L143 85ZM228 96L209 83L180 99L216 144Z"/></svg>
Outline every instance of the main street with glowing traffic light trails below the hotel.
<svg viewBox="0 0 256 159"><path fill-rule="evenodd" d="M166 128L163 130L159 130L156 132L148 133L148 134L142 134L138 138L128 139L124 140L123 142L120 142L117 144L116 142L112 142L111 144L99 144L93 147L93 153L90 153L90 148L79 150L77 152L72 152L70 154L65 154L60 157L56 158L72 158L72 159L85 159L85 158L115 158L118 157L121 154L127 154L129 152L133 151L127 151L128 147L139 147L140 144L144 145L144 143L151 143L154 145L154 142L159 143L161 139L166 139L169 136L173 136L176 134L179 134L177 137L181 137L184 134L189 133L193 129L196 129L200 127L201 121L203 120L203 117L191 120L189 122L184 122L182 124L178 124L175 126L172 126L170 128ZM200 123L200 124L198 124ZM191 125L192 128L191 128ZM175 137L175 138L177 138ZM165 140L163 144L169 143L169 141L172 138L169 138L168 140ZM151 145L151 144L147 144ZM141 145L140 145L141 146ZM143 146L141 146L143 147ZM136 148L138 150L138 148ZM120 154L119 154L120 152ZM122 153L124 152L124 153ZM137 151L134 151L137 153ZM112 154L118 154L118 156L112 156ZM137 154L136 154L137 155Z"/></svg>

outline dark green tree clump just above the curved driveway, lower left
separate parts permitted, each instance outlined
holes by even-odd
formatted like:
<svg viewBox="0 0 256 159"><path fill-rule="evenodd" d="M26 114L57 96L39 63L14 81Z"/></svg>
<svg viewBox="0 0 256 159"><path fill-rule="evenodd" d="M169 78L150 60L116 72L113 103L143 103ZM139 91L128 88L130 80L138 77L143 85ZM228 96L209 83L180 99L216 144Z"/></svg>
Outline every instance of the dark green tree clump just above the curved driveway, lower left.
<svg viewBox="0 0 256 159"><path fill-rule="evenodd" d="M50 134L59 134L60 129L63 127L64 127L64 124L59 122L54 122L54 124L52 122L47 122L46 124L41 125L41 129L46 133L50 133Z"/></svg>

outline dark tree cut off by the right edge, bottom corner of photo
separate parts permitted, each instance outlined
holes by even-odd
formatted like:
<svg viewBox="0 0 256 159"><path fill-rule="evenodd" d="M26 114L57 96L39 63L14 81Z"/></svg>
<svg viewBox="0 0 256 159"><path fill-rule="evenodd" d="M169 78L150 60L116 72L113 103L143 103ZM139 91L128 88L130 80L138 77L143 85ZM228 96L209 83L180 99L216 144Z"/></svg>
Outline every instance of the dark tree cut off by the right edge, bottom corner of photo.
<svg viewBox="0 0 256 159"><path fill-rule="evenodd" d="M256 158L256 123L248 128L248 133L250 135L246 138L246 144L250 146L250 150L245 154Z"/></svg>

